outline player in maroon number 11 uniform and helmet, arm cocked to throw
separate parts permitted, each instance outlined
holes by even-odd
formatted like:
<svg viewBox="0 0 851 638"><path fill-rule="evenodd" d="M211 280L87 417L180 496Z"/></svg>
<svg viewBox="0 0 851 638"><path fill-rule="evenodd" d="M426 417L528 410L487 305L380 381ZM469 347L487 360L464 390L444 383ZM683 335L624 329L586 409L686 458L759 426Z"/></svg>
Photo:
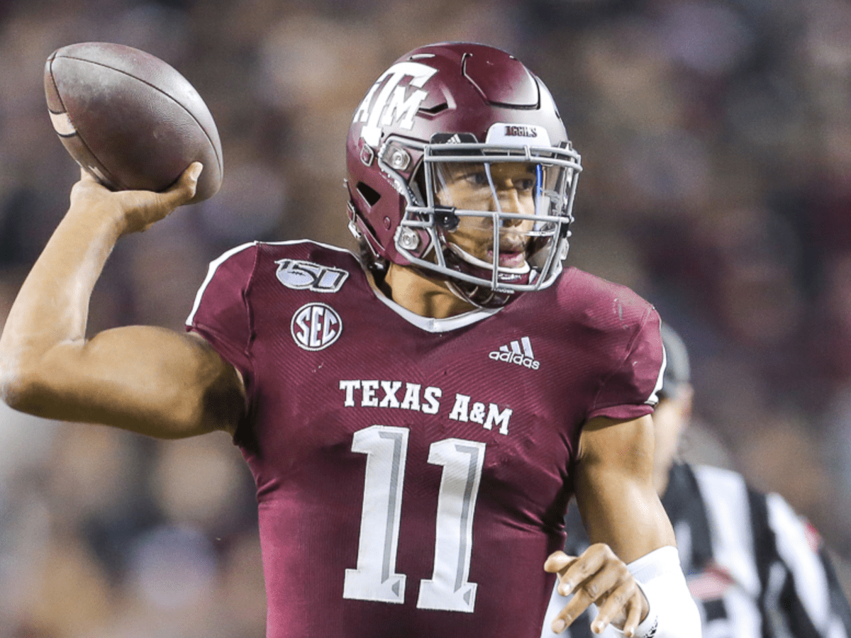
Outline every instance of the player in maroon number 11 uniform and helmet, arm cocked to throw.
<svg viewBox="0 0 851 638"><path fill-rule="evenodd" d="M209 267L186 333L86 339L120 236L187 202L85 175L0 340L17 409L177 438L225 430L257 486L267 635L694 638L653 484L660 318L563 269L580 174L551 95L495 48L397 60L346 143L355 255L252 242ZM188 304L187 304L188 305ZM568 556L575 495L591 546Z"/></svg>

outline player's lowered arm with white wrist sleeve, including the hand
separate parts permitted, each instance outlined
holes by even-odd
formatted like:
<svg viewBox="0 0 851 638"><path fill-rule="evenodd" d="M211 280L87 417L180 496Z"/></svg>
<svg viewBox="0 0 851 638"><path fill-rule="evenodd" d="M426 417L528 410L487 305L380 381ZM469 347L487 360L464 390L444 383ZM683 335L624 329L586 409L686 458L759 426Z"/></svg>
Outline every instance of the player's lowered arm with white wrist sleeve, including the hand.
<svg viewBox="0 0 851 638"><path fill-rule="evenodd" d="M597 633L613 624L628 636L700 636L671 523L654 489L653 450L649 416L585 424L574 489L591 547L578 557L556 552L546 562L547 571L559 573L559 592L573 594L553 622L556 633L595 603Z"/></svg>

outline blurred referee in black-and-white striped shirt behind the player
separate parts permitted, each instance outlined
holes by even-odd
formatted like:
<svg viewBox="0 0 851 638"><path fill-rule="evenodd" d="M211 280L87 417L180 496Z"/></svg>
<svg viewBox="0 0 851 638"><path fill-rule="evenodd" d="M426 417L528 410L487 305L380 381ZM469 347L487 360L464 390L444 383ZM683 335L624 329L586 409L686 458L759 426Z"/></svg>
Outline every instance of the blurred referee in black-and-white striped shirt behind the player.
<svg viewBox="0 0 851 638"><path fill-rule="evenodd" d="M667 367L654 413L654 482L677 534L688 589L700 609L703 638L851 638L851 609L814 528L779 494L758 493L739 474L674 462L692 406L688 352L662 327ZM565 552L588 546L577 508L565 520ZM553 590L542 638L565 599ZM593 612L594 616L589 616ZM596 609L560 638L591 638ZM606 629L603 636L615 636Z"/></svg>

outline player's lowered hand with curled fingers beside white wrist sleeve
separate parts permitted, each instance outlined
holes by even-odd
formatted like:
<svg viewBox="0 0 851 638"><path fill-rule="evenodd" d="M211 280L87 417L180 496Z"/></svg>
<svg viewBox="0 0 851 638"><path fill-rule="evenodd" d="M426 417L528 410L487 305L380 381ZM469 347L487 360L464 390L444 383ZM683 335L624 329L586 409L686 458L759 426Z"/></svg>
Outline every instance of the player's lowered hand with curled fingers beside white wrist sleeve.
<svg viewBox="0 0 851 638"><path fill-rule="evenodd" d="M599 609L597 618L591 623L591 629L597 634L608 624L614 624L624 635L632 636L649 612L647 599L635 578L607 544L591 545L580 556L554 552L546 559L544 569L558 574L559 594L573 594L552 622L551 629L557 634L591 603Z"/></svg>

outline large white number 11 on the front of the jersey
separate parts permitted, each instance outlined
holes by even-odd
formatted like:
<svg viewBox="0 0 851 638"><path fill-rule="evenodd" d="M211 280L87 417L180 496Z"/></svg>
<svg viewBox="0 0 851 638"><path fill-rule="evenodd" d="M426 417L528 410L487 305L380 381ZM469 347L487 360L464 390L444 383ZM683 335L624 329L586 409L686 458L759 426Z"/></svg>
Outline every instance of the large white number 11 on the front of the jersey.
<svg viewBox="0 0 851 638"><path fill-rule="evenodd" d="M405 574L396 573L396 552L408 428L373 425L355 432L351 451L367 455L357 568L346 569L343 597L402 603ZM472 612L476 583L468 582L472 525L482 479L485 444L444 439L431 444L428 462L443 467L437 494L434 570L420 581L417 607Z"/></svg>

